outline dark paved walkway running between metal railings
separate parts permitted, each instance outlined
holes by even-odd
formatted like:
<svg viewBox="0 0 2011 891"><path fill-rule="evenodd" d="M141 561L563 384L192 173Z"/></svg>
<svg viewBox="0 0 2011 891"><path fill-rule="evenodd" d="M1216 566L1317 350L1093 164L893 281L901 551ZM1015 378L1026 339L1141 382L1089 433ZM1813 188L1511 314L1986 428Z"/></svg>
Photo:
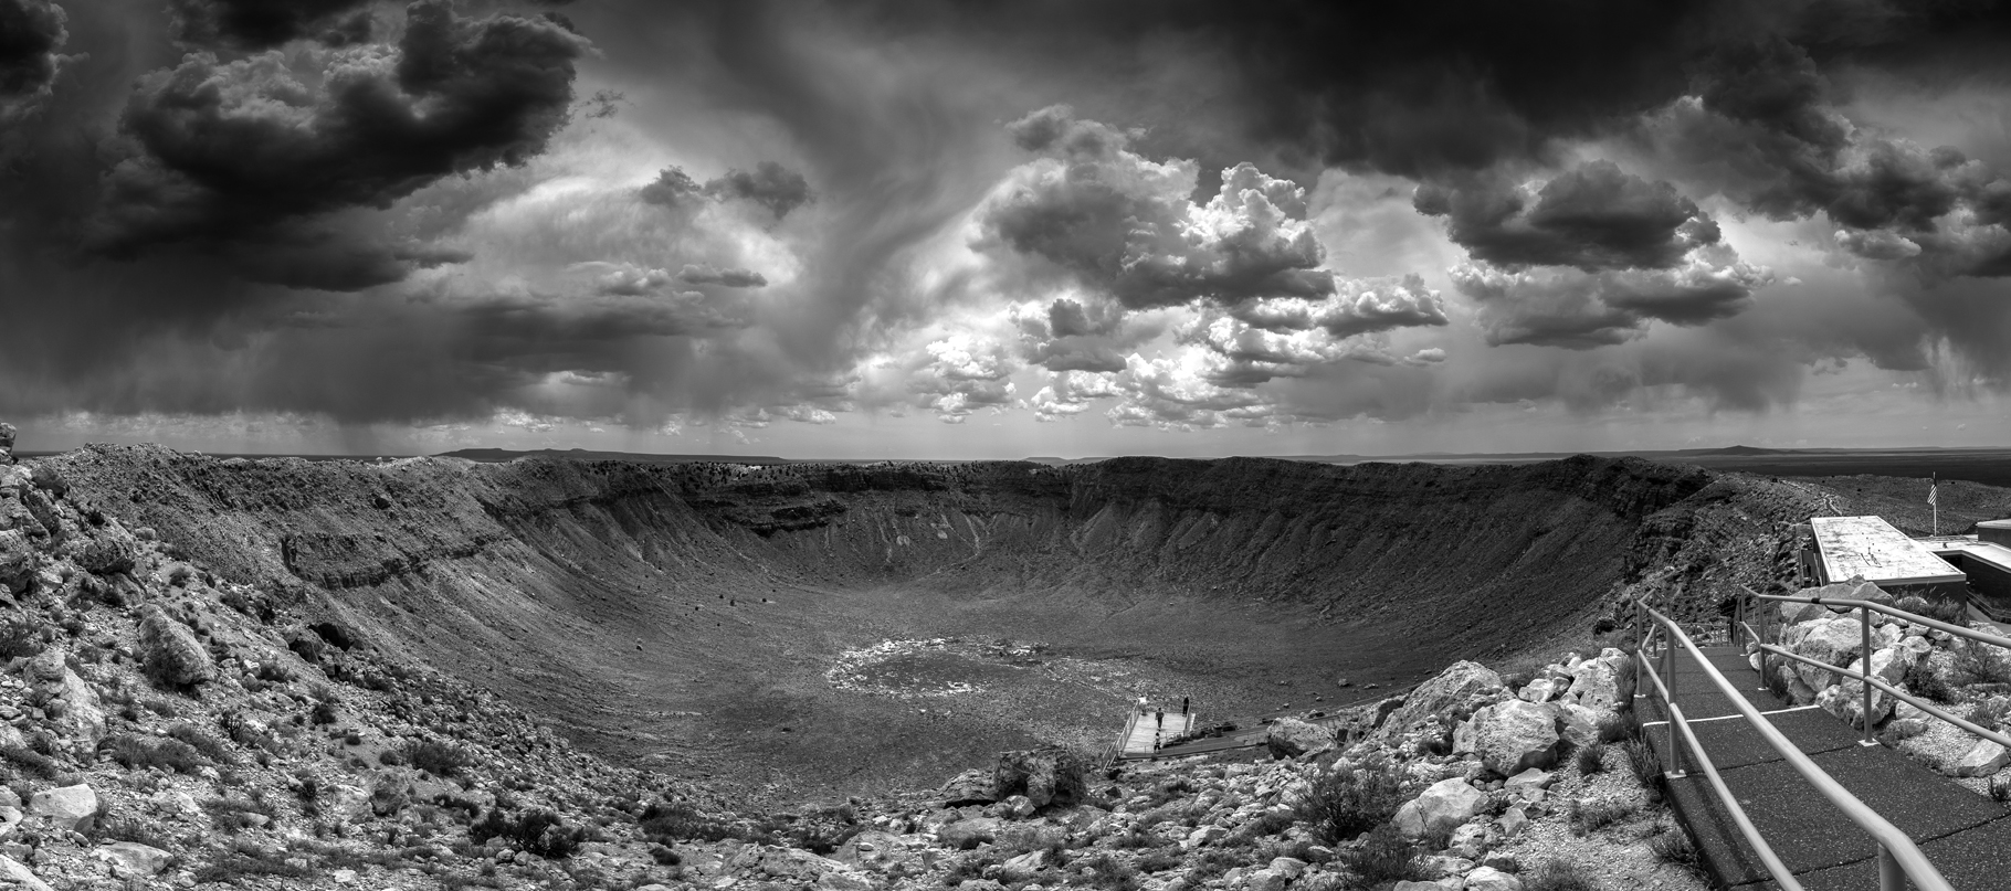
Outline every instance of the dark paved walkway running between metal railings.
<svg viewBox="0 0 2011 891"><path fill-rule="evenodd" d="M1959 891L2011 887L2011 811L1886 746L1860 744L1860 732L1820 708L1794 708L1760 684L1733 648L1705 648L1705 658L1740 696L1760 706L1802 752L1866 807L1890 821ZM1657 672L1661 666L1657 664ZM1647 678L1643 684L1651 684ZM1746 817L1808 891L1872 891L1878 845L1814 786L1802 780L1689 658L1677 658L1675 704L1691 722ZM1647 738L1669 764L1661 700L1635 700ZM1685 764L1691 766L1693 764ZM1731 825L1701 770L1669 782L1669 805L1697 841L1717 887L1778 889L1760 857Z"/></svg>

